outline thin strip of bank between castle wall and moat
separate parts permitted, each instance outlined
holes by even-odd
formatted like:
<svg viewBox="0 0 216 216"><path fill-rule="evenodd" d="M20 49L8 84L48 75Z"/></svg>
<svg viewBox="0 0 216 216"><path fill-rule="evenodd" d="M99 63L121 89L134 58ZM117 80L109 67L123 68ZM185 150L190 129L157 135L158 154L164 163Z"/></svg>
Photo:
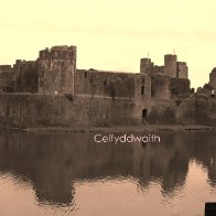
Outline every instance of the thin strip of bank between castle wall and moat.
<svg viewBox="0 0 216 216"><path fill-rule="evenodd" d="M175 132L175 131L214 131L216 127L198 125L139 125L139 126L98 126L98 127L45 127L45 128L8 128L0 127L1 130L20 130L26 132Z"/></svg>

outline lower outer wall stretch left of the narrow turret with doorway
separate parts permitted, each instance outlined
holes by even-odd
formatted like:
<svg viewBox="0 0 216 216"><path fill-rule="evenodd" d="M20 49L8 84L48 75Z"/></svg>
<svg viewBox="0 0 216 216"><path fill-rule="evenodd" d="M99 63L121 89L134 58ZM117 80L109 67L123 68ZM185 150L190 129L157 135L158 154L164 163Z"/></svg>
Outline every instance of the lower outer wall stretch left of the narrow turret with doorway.
<svg viewBox="0 0 216 216"><path fill-rule="evenodd" d="M17 128L132 125L133 100L1 94L0 125Z"/></svg>

